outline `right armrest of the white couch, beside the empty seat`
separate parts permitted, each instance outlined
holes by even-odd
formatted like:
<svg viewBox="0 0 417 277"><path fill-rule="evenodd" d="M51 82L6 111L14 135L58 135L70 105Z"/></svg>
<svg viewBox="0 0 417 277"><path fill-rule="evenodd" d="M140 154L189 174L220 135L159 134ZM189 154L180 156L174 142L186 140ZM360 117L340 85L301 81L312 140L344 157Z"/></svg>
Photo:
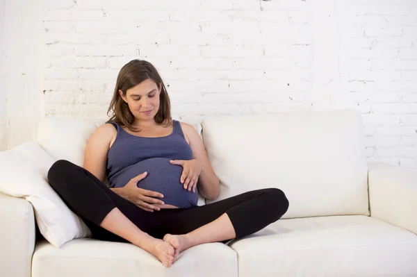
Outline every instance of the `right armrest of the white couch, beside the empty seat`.
<svg viewBox="0 0 417 277"><path fill-rule="evenodd" d="M417 234L417 171L382 163L368 170L370 216Z"/></svg>

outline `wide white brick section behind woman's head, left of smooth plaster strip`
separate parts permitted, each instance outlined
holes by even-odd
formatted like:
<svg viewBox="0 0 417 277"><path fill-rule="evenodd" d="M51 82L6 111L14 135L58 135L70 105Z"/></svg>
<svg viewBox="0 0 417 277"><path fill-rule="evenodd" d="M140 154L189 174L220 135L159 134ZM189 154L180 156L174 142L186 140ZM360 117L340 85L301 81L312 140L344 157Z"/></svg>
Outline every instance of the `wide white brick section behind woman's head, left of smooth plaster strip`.
<svg viewBox="0 0 417 277"><path fill-rule="evenodd" d="M304 1L58 2L42 4L49 115L105 117L133 58L159 69L184 120L311 109Z"/></svg>

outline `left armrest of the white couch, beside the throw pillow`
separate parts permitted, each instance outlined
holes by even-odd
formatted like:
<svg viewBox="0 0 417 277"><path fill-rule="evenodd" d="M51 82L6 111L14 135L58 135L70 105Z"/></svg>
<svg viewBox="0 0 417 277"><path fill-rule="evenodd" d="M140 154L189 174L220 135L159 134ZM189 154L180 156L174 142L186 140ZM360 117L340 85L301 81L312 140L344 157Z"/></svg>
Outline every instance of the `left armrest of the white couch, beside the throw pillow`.
<svg viewBox="0 0 417 277"><path fill-rule="evenodd" d="M31 276L35 216L31 203L0 193L0 276Z"/></svg>

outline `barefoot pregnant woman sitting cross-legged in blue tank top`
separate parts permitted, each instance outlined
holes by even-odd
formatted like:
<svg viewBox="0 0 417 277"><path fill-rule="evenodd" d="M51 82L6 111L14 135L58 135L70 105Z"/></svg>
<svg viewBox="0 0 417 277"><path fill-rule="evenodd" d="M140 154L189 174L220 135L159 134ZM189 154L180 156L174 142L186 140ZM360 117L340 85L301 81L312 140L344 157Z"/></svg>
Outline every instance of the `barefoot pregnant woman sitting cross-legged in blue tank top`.
<svg viewBox="0 0 417 277"><path fill-rule="evenodd" d="M197 131L172 120L151 63L122 67L108 112L111 119L88 140L83 167L58 160L48 172L51 187L93 238L131 242L170 267L181 251L245 237L288 210L277 188L197 205L197 192L218 198L219 180Z"/></svg>

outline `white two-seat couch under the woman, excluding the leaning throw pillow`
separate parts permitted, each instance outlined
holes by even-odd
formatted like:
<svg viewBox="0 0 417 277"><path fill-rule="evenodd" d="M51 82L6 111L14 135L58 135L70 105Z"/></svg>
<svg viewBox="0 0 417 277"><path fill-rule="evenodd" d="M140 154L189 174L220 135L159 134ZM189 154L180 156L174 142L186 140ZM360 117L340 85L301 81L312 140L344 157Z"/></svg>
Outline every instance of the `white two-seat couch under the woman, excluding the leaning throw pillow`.
<svg viewBox="0 0 417 277"><path fill-rule="evenodd" d="M82 165L100 123L46 117L38 143ZM0 194L0 276L417 276L417 174L366 162L358 112L207 117L200 127L221 182L216 201L279 187L290 201L282 219L228 245L188 249L166 269L127 243L56 248L35 235L28 201Z"/></svg>

